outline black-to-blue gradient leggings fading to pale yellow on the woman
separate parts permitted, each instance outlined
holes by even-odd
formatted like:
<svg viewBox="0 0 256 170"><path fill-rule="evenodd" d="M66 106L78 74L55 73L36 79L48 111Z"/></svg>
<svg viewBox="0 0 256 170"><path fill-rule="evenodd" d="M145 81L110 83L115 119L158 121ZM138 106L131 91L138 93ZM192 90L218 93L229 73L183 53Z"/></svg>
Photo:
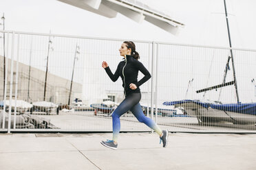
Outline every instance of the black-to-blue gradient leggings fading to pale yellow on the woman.
<svg viewBox="0 0 256 170"><path fill-rule="evenodd" d="M125 97L122 103L114 110L112 113L112 124L113 124L113 141L117 142L118 134L120 132L120 117L122 114L125 114L130 110L134 116L138 119L138 121L145 123L147 126L151 127L151 129L155 130L156 133L162 134L162 130L156 125L156 123L146 117L142 112L142 108L139 104L141 99L140 93L131 93Z"/></svg>

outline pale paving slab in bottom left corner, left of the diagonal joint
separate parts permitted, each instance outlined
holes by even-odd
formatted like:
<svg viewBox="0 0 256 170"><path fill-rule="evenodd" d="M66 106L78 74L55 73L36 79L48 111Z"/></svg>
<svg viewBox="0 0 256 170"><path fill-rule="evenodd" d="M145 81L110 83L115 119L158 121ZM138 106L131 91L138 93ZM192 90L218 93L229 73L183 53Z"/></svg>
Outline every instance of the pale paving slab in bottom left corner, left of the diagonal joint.
<svg viewBox="0 0 256 170"><path fill-rule="evenodd" d="M4 170L98 169L78 151L32 151L0 154Z"/></svg>

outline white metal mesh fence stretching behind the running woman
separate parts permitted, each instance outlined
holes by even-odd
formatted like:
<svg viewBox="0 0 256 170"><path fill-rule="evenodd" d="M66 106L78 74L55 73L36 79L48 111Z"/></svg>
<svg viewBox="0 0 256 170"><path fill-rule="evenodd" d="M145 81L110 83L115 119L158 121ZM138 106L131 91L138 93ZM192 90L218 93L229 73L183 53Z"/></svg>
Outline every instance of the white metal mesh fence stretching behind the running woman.
<svg viewBox="0 0 256 170"><path fill-rule="evenodd" d="M101 63L116 71L124 40L0 34L1 131L111 132L110 114L125 96L122 81L111 82ZM134 42L152 75L140 87L140 104L161 128L255 132L255 50ZM127 112L121 131L149 128Z"/></svg>

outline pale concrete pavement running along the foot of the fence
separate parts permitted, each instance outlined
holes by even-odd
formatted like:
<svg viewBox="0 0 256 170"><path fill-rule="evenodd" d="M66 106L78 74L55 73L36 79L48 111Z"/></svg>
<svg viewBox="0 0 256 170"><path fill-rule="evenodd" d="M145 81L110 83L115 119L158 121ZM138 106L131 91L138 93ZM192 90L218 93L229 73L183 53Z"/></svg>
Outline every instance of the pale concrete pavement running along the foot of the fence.
<svg viewBox="0 0 256 170"><path fill-rule="evenodd" d="M256 134L0 134L0 169L256 169Z"/></svg>

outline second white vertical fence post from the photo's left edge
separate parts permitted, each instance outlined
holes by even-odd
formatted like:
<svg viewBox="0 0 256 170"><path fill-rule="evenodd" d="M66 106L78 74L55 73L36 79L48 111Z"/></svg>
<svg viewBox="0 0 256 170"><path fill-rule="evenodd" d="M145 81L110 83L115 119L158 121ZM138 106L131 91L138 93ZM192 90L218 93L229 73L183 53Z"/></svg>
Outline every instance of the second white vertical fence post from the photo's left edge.
<svg viewBox="0 0 256 170"><path fill-rule="evenodd" d="M9 97L9 114L8 114L8 134L10 134L11 115L12 115L13 59L14 59L14 32L12 32L12 53L11 53L11 72L10 72L10 97Z"/></svg>

